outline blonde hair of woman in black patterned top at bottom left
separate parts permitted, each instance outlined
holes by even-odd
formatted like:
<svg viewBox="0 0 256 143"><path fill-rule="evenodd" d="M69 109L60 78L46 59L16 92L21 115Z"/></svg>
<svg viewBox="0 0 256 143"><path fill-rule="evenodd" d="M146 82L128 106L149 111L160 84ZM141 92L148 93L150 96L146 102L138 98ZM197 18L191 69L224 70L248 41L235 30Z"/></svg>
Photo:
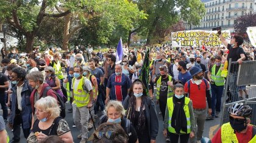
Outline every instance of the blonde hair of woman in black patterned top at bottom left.
<svg viewBox="0 0 256 143"><path fill-rule="evenodd" d="M35 102L35 108L40 108L40 110L49 113L49 118L55 119L60 116L60 107L57 100L52 96L40 98L37 102Z"/></svg>

